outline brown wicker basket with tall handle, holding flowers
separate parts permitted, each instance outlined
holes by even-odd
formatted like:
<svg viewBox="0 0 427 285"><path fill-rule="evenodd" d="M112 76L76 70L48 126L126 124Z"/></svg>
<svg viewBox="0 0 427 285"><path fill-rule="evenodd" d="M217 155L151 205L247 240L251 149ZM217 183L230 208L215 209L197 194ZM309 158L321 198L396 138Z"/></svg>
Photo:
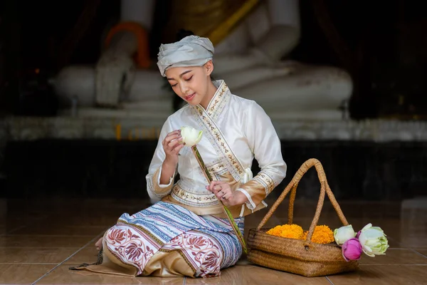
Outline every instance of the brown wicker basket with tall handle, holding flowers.
<svg viewBox="0 0 427 285"><path fill-rule="evenodd" d="M315 217L312 220L307 234L307 239L289 239L266 234L265 232L267 232L268 229L262 228L263 225L270 219L275 209L283 202L283 199L285 199L286 195L288 195L291 190L288 224L292 224L293 206L298 182L300 182L302 175L312 166L315 166L320 180L320 197L317 203ZM248 234L248 260L254 264L265 266L270 269L300 274L307 277L356 271L359 268L358 262L345 261L342 257L341 247L338 247L337 244L317 244L315 242L309 242L311 241L312 234L319 221L323 201L325 200L325 192L332 202L342 224L347 226L347 219L344 217L344 214L342 214L339 204L327 184L322 164L319 160L307 160L297 171L289 185L283 190L283 193L273 204L273 207L271 207L258 227L256 229L250 229Z"/></svg>

